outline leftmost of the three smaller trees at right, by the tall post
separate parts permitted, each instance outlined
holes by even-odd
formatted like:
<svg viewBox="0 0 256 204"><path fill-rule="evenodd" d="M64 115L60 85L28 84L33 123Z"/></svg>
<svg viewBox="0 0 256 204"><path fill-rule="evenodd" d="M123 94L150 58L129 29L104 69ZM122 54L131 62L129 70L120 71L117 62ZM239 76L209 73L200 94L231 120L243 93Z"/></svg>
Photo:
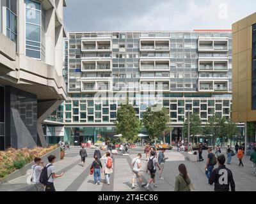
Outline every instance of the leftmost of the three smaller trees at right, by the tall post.
<svg viewBox="0 0 256 204"><path fill-rule="evenodd" d="M191 115L189 115L189 136L193 136L193 143L195 143L195 136L201 135L202 132L202 123L199 115L196 113L192 113ZM188 135L188 118L184 122L183 133L185 135Z"/></svg>

